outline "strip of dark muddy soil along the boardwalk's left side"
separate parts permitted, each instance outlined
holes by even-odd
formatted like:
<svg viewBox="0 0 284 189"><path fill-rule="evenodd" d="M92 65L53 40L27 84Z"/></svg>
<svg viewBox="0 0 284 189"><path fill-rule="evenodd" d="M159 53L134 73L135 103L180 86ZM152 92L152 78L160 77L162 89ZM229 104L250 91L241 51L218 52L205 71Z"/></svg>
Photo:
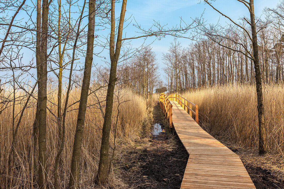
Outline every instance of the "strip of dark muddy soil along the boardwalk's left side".
<svg viewBox="0 0 284 189"><path fill-rule="evenodd" d="M158 105L153 109L153 124L156 124L154 135L147 140L147 145L137 147L141 150L134 152L136 161L132 163L136 167L125 172L124 180L131 188L180 188L189 155L177 135L166 131Z"/></svg>

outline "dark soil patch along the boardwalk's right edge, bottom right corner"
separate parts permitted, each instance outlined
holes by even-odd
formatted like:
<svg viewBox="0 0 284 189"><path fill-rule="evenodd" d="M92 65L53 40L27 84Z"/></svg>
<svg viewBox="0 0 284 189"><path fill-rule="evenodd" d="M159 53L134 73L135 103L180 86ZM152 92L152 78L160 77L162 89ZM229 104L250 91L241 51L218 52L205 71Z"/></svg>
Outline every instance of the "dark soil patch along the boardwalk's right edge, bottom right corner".
<svg viewBox="0 0 284 189"><path fill-rule="evenodd" d="M235 153L238 153L238 149L234 147L228 147ZM240 157L241 158L241 157ZM276 176L272 174L271 171L263 169L262 167L253 165L251 162L247 162L242 159L247 172L250 175L252 182L256 189L284 189L284 182L279 180Z"/></svg>

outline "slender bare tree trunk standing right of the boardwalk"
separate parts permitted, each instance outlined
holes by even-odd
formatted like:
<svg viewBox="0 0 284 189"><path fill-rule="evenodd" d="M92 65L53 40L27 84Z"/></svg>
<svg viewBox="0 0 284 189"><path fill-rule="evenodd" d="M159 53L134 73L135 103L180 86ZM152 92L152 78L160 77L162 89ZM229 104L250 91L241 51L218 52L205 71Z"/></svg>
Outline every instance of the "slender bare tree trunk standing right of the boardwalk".
<svg viewBox="0 0 284 189"><path fill-rule="evenodd" d="M257 110L258 110L258 127L259 127L259 154L267 153L266 146L266 127L264 119L264 106L263 106L263 95L262 95L262 81L258 58L258 44L256 35L256 25L254 20L254 3L250 0L250 22L252 30L252 48L254 58L254 70L255 70L255 81L256 81L256 94L257 94Z"/></svg>

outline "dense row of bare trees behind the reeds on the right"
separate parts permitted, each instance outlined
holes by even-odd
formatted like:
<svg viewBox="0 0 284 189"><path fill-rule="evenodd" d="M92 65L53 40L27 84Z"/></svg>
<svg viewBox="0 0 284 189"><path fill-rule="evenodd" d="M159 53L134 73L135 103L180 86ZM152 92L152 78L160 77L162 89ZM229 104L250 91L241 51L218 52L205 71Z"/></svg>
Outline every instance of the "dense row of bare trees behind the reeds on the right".
<svg viewBox="0 0 284 189"><path fill-rule="evenodd" d="M284 3L264 10L258 18L258 56L264 83L283 83L284 70ZM246 18L239 23L249 30ZM211 29L211 30L210 30ZM182 47L174 39L168 53L163 54L166 85L169 92L187 91L196 87L255 83L252 42L248 33L234 24L223 27L202 26L197 32L204 39Z"/></svg>

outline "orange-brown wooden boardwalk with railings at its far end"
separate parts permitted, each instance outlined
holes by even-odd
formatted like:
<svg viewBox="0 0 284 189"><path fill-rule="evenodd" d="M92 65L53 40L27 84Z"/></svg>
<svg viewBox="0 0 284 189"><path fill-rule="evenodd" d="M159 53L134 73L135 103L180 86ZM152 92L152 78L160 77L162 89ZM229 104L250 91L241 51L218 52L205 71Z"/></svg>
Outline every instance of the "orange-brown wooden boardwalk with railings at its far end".
<svg viewBox="0 0 284 189"><path fill-rule="evenodd" d="M196 104L178 93L160 94L159 104L170 128L175 128L189 153L182 189L255 189L239 156L198 125Z"/></svg>

